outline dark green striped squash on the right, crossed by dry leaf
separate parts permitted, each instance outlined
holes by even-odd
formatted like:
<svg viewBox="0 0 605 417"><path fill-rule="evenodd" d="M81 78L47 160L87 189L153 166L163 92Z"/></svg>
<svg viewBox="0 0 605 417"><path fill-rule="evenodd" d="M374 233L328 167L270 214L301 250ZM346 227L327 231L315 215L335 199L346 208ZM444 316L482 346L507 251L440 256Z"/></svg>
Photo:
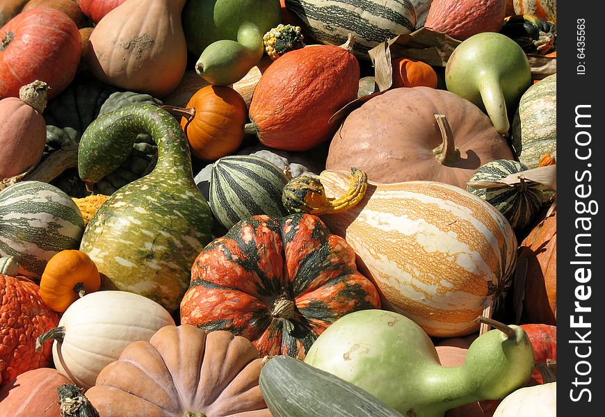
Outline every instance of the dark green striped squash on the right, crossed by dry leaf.
<svg viewBox="0 0 605 417"><path fill-rule="evenodd" d="M527 167L517 161L497 159L478 167L469 181L501 181L510 174L520 174ZM540 212L544 199L544 189L535 181L524 181L508 186L503 184L491 188L471 188L467 191L492 204L504 215L515 231L524 229Z"/></svg>

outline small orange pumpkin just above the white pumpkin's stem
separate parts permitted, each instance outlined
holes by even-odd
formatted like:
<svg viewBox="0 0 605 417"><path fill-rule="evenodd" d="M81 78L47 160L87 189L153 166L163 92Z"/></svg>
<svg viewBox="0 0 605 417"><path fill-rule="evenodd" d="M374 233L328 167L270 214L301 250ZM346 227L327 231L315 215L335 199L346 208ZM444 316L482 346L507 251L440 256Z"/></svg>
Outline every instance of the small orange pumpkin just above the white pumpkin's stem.
<svg viewBox="0 0 605 417"><path fill-rule="evenodd" d="M95 262L79 250L57 252L40 278L40 297L54 311L65 312L72 302L101 286Z"/></svg>

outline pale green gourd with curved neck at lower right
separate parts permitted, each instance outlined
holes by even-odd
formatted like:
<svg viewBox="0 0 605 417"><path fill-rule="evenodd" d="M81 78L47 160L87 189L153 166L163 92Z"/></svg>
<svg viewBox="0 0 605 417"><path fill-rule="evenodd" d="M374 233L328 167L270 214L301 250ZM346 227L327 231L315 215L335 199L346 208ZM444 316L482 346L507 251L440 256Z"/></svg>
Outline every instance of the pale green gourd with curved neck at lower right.
<svg viewBox="0 0 605 417"><path fill-rule="evenodd" d="M355 311L318 336L305 363L359 386L404 416L442 417L463 404L504 398L529 380L529 337L518 326L503 329L508 334L494 329L479 336L465 363L447 368L414 321L392 311Z"/></svg>

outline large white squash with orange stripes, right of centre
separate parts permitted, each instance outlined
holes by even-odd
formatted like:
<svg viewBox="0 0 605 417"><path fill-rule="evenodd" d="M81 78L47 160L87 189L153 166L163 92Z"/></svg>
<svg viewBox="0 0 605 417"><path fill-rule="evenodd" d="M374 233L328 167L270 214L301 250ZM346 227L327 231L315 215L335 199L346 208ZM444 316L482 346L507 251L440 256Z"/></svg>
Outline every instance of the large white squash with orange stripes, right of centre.
<svg viewBox="0 0 605 417"><path fill-rule="evenodd" d="M325 170L328 197L343 195L350 174ZM374 183L348 211L322 215L357 254L382 308L414 320L429 336L467 336L488 301L510 286L517 239L483 199L436 181Z"/></svg>

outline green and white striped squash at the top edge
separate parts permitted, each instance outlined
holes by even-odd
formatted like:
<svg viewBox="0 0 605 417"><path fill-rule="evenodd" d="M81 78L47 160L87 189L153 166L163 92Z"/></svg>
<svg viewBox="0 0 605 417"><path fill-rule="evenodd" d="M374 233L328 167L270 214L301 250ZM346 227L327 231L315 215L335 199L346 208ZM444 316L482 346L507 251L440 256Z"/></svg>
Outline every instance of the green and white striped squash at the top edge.
<svg viewBox="0 0 605 417"><path fill-rule="evenodd" d="M285 5L318 42L341 45L349 33L355 35L353 53L362 59L380 42L414 31L417 19L410 0L285 0Z"/></svg>

